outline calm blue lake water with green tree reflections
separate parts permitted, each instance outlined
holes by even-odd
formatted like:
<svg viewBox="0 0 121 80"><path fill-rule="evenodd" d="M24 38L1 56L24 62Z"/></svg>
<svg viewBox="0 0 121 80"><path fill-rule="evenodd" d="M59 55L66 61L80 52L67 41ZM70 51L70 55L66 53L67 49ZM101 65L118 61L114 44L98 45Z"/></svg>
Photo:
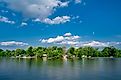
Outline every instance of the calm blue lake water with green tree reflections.
<svg viewBox="0 0 121 80"><path fill-rule="evenodd" d="M121 80L121 58L68 61L0 58L0 80Z"/></svg>

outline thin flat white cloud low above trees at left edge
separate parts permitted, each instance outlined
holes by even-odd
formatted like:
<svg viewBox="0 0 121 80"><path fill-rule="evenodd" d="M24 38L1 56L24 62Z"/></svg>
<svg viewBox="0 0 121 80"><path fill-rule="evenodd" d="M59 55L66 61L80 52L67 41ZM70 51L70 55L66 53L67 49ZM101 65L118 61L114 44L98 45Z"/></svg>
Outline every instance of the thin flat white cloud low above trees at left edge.
<svg viewBox="0 0 121 80"><path fill-rule="evenodd" d="M6 41L0 42L0 46L27 46L28 43L16 42L16 41Z"/></svg>

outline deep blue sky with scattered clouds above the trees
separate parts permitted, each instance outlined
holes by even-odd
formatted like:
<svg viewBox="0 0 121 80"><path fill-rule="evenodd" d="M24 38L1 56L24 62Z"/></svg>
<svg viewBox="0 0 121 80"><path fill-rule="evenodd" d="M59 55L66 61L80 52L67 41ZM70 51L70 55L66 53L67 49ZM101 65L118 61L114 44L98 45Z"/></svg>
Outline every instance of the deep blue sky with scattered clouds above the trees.
<svg viewBox="0 0 121 80"><path fill-rule="evenodd" d="M121 46L120 0L0 0L0 48Z"/></svg>

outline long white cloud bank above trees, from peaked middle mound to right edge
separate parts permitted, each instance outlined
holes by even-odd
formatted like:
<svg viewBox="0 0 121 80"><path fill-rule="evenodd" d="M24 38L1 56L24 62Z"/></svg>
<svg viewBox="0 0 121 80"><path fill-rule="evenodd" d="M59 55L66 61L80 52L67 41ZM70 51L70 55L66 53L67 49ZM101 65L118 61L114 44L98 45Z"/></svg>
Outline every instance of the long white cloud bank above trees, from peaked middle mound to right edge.
<svg viewBox="0 0 121 80"><path fill-rule="evenodd" d="M103 41L81 41L81 37L78 35L72 35L71 33L65 33L63 36L57 36L48 39L40 39L41 43L47 44L59 44L66 46L75 46L75 47L109 47L109 46L121 46L121 42L103 42Z"/></svg>

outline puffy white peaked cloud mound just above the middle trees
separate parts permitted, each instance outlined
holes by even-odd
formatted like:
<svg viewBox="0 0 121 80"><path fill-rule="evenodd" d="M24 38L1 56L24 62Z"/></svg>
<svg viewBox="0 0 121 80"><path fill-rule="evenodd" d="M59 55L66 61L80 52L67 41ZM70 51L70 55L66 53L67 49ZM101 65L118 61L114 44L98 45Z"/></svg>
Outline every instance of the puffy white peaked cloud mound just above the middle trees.
<svg viewBox="0 0 121 80"><path fill-rule="evenodd" d="M65 33L63 36L57 36L55 38L40 39L41 43L54 43L54 44L65 44L65 45L76 45L80 36L73 36L71 33Z"/></svg>

